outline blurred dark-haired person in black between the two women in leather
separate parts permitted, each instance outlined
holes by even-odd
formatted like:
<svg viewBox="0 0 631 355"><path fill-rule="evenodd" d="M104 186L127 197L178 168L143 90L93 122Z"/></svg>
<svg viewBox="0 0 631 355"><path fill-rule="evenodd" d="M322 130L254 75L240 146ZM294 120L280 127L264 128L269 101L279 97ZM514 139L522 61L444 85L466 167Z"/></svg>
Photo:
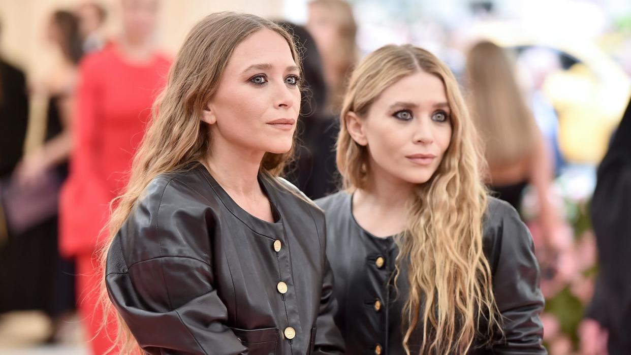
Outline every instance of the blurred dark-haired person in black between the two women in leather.
<svg viewBox="0 0 631 355"><path fill-rule="evenodd" d="M338 120L327 113L327 86L313 37L302 26L279 23L293 33L294 42L302 49L302 79L306 88L300 105L296 158L288 167L286 177L305 195L319 199L336 191Z"/></svg>

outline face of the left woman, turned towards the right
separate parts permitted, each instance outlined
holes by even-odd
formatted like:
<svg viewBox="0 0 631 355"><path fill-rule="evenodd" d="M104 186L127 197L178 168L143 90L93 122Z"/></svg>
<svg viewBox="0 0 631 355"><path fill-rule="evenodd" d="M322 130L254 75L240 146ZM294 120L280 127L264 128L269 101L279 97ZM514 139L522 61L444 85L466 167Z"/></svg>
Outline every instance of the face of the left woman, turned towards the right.
<svg viewBox="0 0 631 355"><path fill-rule="evenodd" d="M233 51L204 110L213 144L258 153L286 153L300 112L300 73L285 38L264 29Z"/></svg>

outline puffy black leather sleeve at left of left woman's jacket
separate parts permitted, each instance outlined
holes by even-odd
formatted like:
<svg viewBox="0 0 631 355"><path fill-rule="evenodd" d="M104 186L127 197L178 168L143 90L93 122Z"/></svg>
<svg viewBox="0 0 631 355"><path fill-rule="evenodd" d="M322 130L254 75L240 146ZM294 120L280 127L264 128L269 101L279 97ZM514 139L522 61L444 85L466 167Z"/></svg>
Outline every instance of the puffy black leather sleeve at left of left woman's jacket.
<svg viewBox="0 0 631 355"><path fill-rule="evenodd" d="M115 237L110 299L148 354L247 354L213 288L211 238L199 238L213 233L213 216L195 202L179 207L169 184L150 185Z"/></svg>

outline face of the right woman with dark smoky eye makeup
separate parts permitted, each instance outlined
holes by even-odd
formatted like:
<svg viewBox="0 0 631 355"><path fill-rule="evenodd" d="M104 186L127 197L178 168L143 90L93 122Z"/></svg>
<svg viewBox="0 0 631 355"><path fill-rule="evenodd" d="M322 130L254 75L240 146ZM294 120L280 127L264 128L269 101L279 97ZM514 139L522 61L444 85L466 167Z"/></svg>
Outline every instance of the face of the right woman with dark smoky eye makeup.
<svg viewBox="0 0 631 355"><path fill-rule="evenodd" d="M365 117L349 113L346 127L367 147L372 176L418 184L432 177L449 148L450 120L444 84L419 72L384 90Z"/></svg>

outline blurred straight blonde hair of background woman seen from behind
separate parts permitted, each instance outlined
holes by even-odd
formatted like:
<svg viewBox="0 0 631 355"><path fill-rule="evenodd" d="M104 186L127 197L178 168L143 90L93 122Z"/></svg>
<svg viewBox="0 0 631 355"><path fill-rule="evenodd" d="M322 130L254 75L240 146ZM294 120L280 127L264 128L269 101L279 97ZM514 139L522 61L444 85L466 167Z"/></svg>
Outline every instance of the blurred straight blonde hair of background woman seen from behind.
<svg viewBox="0 0 631 355"><path fill-rule="evenodd" d="M540 134L504 49L479 42L466 62L468 103L491 168L532 156Z"/></svg>

